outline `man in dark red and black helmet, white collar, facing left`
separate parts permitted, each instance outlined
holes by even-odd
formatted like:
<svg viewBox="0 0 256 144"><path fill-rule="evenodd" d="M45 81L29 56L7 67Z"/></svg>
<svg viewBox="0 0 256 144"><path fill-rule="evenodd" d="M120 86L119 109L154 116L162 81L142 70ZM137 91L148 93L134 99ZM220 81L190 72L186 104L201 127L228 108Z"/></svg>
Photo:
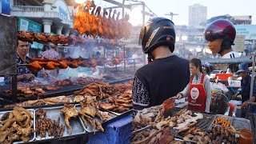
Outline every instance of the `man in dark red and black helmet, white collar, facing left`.
<svg viewBox="0 0 256 144"><path fill-rule="evenodd" d="M220 54L221 58L238 58L238 52L232 50L236 30L232 22L218 19L206 26L204 37L212 54Z"/></svg>

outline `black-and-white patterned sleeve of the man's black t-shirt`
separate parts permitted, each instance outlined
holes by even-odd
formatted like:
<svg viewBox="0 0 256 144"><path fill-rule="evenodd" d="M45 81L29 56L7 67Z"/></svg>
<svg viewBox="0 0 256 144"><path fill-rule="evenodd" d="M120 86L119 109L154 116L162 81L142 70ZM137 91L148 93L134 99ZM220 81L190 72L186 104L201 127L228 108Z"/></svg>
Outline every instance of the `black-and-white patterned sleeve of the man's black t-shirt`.
<svg viewBox="0 0 256 144"><path fill-rule="evenodd" d="M135 76L132 88L134 110L142 110L150 106L150 93L139 78Z"/></svg>

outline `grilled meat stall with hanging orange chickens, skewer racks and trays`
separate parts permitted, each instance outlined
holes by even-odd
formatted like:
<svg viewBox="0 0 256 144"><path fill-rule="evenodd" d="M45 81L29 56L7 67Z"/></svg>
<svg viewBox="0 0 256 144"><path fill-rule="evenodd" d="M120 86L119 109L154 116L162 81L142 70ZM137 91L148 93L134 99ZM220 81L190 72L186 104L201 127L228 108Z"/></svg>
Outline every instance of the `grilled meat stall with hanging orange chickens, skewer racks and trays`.
<svg viewBox="0 0 256 144"><path fill-rule="evenodd" d="M132 122L132 82L130 80L133 77L106 80L99 74L99 76L77 78L35 78L32 82L17 82L16 68L18 66L26 66L34 73L41 70L71 70L78 67L106 66L106 54L103 54L103 58L72 56L58 59L30 58L30 61L25 64L16 63L17 40L29 43L38 42L43 45L51 42L57 46L70 46L78 49L89 45L101 46L104 50L121 49L124 44L119 42L118 38L129 38L132 29L130 23L127 22L128 15L122 19L112 20L112 14L109 14L111 17L106 18L106 10L104 10L105 24L113 22L116 30L112 30L115 32L114 35L113 33L100 34L98 29L102 26L99 23L102 18L101 8L98 7L96 10L98 14L95 16L94 11L90 10L91 6L96 8L93 4L93 2L86 2L84 7L86 10L80 10L78 13L86 14L91 18L97 17L98 23L91 25L94 26L94 30L97 30L91 33L82 30L88 26L79 27L86 23L78 22L79 14L76 14L74 30L77 30L79 34L74 33L69 36L18 31L16 17L0 15L4 21L1 23L0 34L5 37L2 38L2 45L0 45L2 56L0 71L1 76L12 77L11 84L0 87L1 143L94 142L100 134L105 136L104 141L110 141L107 139L109 135L115 134L116 136L111 140L120 142L122 130L126 130L126 136L130 138ZM78 27L76 27L77 23L80 23ZM119 31L118 26L123 26L123 30L120 29L122 34L119 35L116 34ZM110 27L112 25L102 26L105 30ZM98 35L97 38L95 34ZM102 34L105 34L105 38L102 38ZM111 57L110 62L115 66L122 61L127 61L119 58L118 55L111 55ZM123 74L123 76L126 75Z"/></svg>

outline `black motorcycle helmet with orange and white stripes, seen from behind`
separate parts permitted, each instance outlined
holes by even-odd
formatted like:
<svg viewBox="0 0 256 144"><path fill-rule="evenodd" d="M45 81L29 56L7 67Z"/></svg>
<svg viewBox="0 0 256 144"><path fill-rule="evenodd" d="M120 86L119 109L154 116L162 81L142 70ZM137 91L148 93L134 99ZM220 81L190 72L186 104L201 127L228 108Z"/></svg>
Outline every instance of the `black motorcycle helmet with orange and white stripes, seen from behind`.
<svg viewBox="0 0 256 144"><path fill-rule="evenodd" d="M142 26L138 43L145 54L150 54L158 46L169 46L170 51L174 52L174 22L168 18L150 18Z"/></svg>

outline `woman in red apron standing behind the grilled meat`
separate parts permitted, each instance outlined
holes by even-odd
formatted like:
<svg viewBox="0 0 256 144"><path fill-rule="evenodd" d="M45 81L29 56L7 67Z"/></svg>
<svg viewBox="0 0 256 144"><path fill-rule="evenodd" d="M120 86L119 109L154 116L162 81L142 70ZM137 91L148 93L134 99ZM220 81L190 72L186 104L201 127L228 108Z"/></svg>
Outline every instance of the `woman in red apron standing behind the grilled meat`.
<svg viewBox="0 0 256 144"><path fill-rule="evenodd" d="M210 80L202 74L201 60L193 58L190 61L190 83L177 94L178 98L188 97L188 109L210 112L211 88Z"/></svg>

